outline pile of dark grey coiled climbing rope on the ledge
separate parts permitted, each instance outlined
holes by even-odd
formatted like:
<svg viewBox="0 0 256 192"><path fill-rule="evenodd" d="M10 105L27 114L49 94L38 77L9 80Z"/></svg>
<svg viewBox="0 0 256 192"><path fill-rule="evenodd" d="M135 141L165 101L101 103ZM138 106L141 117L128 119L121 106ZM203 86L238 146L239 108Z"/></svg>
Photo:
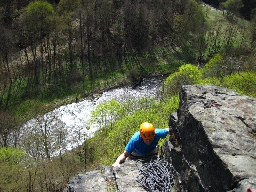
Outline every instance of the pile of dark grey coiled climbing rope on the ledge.
<svg viewBox="0 0 256 192"><path fill-rule="evenodd" d="M138 161L142 166L139 168ZM172 192L173 166L159 157L150 157L148 159L138 159L136 165L140 171L136 181L140 183L146 191L149 192Z"/></svg>

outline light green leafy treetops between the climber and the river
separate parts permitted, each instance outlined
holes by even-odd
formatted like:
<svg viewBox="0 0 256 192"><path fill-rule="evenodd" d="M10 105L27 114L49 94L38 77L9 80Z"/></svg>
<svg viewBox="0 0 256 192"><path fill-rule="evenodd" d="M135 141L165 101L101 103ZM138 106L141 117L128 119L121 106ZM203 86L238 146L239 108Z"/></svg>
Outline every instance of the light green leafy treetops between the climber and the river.
<svg viewBox="0 0 256 192"><path fill-rule="evenodd" d="M139 126L144 121L151 122L155 127L167 127L170 113L176 111L179 103L178 95L171 97L167 104L163 101L157 101L153 97L145 98L124 98L121 102L112 100L113 110L116 114L112 128L110 122L106 124L106 134L97 132L91 138L91 144L96 146L93 154L95 162L98 164L112 164L117 156L123 153L125 146L132 135L138 131ZM116 103L118 103L116 105ZM110 102L102 103L97 110L97 114L105 113L106 106ZM93 114L92 116L95 116ZM93 144L94 143L94 144ZM101 145L97 145L101 143ZM164 139L159 141L161 147ZM102 158L104 156L104 158Z"/></svg>

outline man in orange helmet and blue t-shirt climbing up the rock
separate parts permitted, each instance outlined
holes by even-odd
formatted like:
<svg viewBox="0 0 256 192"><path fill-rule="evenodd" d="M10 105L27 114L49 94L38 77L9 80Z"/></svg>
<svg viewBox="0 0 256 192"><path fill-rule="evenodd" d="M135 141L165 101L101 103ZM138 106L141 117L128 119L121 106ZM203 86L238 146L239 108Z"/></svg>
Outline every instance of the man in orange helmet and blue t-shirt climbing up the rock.
<svg viewBox="0 0 256 192"><path fill-rule="evenodd" d="M165 138L170 134L169 128L155 129L155 127L148 122L140 125L139 131L134 133L130 141L112 167L120 167L120 163L124 160L132 160L138 156L158 156L158 141L160 138Z"/></svg>

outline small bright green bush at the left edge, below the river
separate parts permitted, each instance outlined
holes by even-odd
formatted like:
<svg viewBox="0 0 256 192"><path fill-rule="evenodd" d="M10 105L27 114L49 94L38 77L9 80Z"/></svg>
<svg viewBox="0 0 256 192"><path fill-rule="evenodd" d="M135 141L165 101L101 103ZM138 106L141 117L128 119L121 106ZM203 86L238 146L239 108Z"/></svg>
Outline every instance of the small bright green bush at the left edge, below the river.
<svg viewBox="0 0 256 192"><path fill-rule="evenodd" d="M17 164L25 158L25 153L18 148L1 148L0 149L0 162L9 165Z"/></svg>

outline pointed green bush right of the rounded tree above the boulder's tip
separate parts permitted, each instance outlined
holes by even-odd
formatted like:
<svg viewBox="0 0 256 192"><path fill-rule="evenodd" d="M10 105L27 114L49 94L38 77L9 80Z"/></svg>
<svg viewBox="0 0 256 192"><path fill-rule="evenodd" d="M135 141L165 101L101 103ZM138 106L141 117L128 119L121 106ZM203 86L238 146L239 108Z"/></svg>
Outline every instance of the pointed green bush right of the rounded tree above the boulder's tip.
<svg viewBox="0 0 256 192"><path fill-rule="evenodd" d="M217 77L222 79L224 76L223 69L223 56L216 54L212 57L202 68L202 77Z"/></svg>

